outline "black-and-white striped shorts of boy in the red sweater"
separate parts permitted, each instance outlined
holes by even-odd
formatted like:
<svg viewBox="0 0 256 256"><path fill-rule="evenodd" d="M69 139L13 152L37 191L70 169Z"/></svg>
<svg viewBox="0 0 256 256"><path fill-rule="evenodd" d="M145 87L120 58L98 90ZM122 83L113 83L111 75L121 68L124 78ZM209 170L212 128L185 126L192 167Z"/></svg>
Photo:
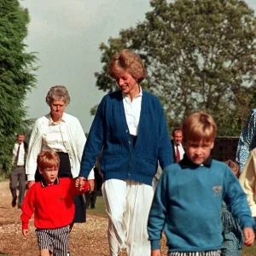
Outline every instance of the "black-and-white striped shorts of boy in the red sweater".
<svg viewBox="0 0 256 256"><path fill-rule="evenodd" d="M57 229L36 229L38 247L49 249L54 256L67 256L69 225Z"/></svg>

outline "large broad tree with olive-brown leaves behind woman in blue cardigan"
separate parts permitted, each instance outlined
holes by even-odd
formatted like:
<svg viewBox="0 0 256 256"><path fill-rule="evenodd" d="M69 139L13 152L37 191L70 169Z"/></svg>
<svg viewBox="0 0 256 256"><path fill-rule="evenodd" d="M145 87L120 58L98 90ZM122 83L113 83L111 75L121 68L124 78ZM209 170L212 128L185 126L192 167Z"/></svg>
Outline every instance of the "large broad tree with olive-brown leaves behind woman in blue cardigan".
<svg viewBox="0 0 256 256"><path fill-rule="evenodd" d="M101 44L96 86L114 90L106 71L120 49L141 55L148 90L160 97L170 128L194 111L212 114L218 136L238 135L255 84L256 18L240 0L152 0L146 20ZM247 102L247 104L244 104Z"/></svg>

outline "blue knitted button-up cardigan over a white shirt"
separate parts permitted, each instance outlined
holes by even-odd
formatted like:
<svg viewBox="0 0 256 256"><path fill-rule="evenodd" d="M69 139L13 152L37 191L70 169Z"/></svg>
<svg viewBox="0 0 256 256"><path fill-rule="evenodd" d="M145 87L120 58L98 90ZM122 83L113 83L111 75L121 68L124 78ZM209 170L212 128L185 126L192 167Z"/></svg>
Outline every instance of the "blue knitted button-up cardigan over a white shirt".
<svg viewBox="0 0 256 256"><path fill-rule="evenodd" d="M164 111L156 96L143 90L142 108L133 148L121 91L102 98L84 146L79 176L88 177L102 151L103 180L131 179L152 185L158 161L172 164L172 146Z"/></svg>

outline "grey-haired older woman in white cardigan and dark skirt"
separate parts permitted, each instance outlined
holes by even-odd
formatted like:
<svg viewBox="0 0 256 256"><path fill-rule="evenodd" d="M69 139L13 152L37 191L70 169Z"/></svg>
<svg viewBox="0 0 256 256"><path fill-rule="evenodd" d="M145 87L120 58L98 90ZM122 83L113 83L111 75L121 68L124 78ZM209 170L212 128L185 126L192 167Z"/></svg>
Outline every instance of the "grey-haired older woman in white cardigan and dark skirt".
<svg viewBox="0 0 256 256"><path fill-rule="evenodd" d="M78 177L80 162L86 137L79 119L65 113L70 102L67 88L55 85L50 88L46 102L50 112L36 120L29 142L26 175L28 187L40 182L42 176L37 170L37 157L43 151L55 151L60 157L58 177ZM94 172L90 172L88 181L90 191L94 190ZM73 223L86 221L86 206L84 195L74 197L75 215ZM73 224L71 224L72 230Z"/></svg>

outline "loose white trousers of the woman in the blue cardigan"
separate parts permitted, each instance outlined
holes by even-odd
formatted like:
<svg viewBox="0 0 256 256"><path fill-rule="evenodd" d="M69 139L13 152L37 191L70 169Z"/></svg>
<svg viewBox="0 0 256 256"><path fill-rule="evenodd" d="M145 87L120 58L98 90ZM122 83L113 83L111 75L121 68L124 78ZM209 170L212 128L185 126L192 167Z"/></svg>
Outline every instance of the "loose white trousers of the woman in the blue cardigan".
<svg viewBox="0 0 256 256"><path fill-rule="evenodd" d="M111 256L126 247L127 256L150 256L148 213L154 190L132 180L109 179L102 185L108 213L108 242Z"/></svg>

